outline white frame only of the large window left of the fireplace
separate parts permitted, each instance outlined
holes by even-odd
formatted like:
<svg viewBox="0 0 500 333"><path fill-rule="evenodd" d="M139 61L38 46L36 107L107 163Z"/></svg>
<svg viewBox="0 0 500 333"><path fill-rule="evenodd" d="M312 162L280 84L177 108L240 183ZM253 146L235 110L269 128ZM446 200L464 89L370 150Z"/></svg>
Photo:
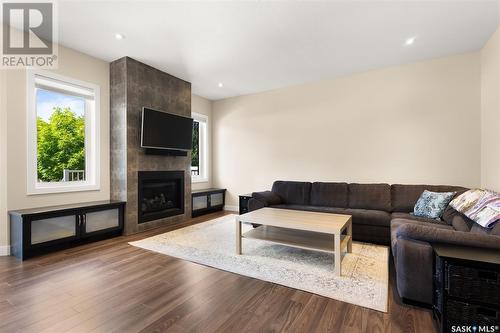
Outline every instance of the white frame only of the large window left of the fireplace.
<svg viewBox="0 0 500 333"><path fill-rule="evenodd" d="M96 84L75 80L49 71L29 69L26 71L27 95L27 194L47 194L79 191L96 191L100 183L100 87ZM37 171L37 78L47 79L54 85L54 91L64 86L75 91L91 91L93 100L85 100L85 180L71 182L39 182ZM69 89L68 89L69 90ZM64 93L64 92L63 92Z"/></svg>

